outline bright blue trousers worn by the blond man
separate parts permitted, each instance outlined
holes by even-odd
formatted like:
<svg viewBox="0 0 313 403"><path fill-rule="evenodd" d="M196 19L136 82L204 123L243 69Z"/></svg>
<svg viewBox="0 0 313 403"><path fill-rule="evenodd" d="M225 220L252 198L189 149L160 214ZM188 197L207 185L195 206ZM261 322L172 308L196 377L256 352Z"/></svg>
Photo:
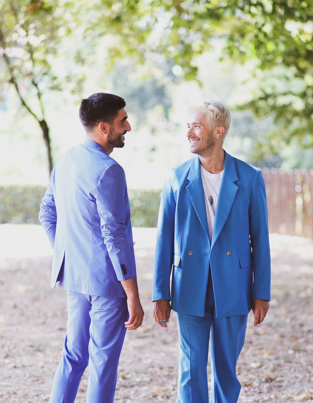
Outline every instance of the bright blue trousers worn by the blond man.
<svg viewBox="0 0 313 403"><path fill-rule="evenodd" d="M236 364L245 341L247 316L215 318L209 276L204 317L177 313L179 334L178 403L209 403L208 349L211 334L210 403L236 403L241 385Z"/></svg>

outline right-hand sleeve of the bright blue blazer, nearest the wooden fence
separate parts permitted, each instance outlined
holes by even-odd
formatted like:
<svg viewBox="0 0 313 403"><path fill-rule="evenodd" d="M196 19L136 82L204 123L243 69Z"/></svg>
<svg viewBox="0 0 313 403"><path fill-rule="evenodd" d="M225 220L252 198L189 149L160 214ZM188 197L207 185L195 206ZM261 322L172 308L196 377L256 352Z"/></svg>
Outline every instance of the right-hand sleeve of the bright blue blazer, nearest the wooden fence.
<svg viewBox="0 0 313 403"><path fill-rule="evenodd" d="M271 262L265 183L257 170L249 204L253 288L251 298L270 300Z"/></svg>

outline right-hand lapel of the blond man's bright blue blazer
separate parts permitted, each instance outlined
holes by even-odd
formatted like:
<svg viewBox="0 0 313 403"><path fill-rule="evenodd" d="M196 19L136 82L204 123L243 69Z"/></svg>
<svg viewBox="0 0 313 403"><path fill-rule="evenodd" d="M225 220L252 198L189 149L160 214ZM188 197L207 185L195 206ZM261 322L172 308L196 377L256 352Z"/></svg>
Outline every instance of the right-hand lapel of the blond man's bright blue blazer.
<svg viewBox="0 0 313 403"><path fill-rule="evenodd" d="M233 202L238 190L238 186L234 182L237 180L238 176L234 159L232 156L227 154L227 152L225 152L224 174L222 177L222 183L220 184L220 191L217 200L212 246L220 235L227 217L229 216L229 212L231 211L231 206L233 206Z"/></svg>

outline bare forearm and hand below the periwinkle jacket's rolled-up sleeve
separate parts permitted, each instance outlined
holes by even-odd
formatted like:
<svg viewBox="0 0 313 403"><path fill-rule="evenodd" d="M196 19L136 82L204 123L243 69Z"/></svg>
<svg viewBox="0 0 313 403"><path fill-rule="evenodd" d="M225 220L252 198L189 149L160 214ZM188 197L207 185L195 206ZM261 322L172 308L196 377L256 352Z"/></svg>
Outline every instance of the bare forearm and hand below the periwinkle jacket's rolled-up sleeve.
<svg viewBox="0 0 313 403"><path fill-rule="evenodd" d="M125 327L128 330L137 329L144 318L144 311L142 309L136 278L130 278L129 280L121 280L125 293L127 295L127 307L129 312L129 319L124 322Z"/></svg>

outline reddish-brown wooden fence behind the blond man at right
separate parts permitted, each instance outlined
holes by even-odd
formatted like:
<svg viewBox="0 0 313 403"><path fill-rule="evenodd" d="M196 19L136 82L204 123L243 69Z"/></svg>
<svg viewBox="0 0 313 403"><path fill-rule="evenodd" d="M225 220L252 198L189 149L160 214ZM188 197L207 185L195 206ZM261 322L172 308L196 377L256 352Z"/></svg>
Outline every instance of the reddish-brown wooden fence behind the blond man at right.
<svg viewBox="0 0 313 403"><path fill-rule="evenodd" d="M270 233L313 238L313 170L262 168Z"/></svg>

